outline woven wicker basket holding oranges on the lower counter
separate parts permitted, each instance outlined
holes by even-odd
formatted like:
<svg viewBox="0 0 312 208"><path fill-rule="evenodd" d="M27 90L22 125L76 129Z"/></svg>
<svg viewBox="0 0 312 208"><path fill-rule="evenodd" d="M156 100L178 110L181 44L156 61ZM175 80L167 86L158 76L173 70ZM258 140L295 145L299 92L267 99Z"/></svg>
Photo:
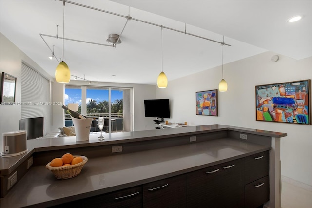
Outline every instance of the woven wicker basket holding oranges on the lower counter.
<svg viewBox="0 0 312 208"><path fill-rule="evenodd" d="M57 179L68 179L68 178L73 178L77 175L80 174L82 167L84 166L84 164L88 161L88 158L85 156L81 156L81 155L73 155L74 158L75 157L81 157L83 159L82 162L77 163L75 165L71 165L71 166L62 166L62 167L51 167L50 163L48 163L45 167L48 170L51 170L52 173L54 174L54 176Z"/></svg>

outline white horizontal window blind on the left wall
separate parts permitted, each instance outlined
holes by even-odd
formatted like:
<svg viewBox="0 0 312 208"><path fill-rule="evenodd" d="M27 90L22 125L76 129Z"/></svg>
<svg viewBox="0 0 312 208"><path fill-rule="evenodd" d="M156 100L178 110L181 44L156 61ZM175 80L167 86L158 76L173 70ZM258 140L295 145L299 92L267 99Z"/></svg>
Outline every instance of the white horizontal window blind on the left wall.
<svg viewBox="0 0 312 208"><path fill-rule="evenodd" d="M21 70L21 118L43 118L43 135L51 128L50 81L22 62Z"/></svg>

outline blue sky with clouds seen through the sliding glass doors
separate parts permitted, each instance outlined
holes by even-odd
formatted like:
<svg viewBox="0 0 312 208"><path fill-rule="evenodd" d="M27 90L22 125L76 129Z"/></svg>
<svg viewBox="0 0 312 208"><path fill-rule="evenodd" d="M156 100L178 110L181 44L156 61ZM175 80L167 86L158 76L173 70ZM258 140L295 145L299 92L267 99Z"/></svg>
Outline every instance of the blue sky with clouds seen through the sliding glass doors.
<svg viewBox="0 0 312 208"><path fill-rule="evenodd" d="M111 101L114 103L115 100L122 99L122 90L111 90ZM65 88L65 105L69 103L78 103L81 104L81 89L70 89ZM108 90L99 90L99 89L87 89L87 99L86 103L89 103L90 100L108 101Z"/></svg>

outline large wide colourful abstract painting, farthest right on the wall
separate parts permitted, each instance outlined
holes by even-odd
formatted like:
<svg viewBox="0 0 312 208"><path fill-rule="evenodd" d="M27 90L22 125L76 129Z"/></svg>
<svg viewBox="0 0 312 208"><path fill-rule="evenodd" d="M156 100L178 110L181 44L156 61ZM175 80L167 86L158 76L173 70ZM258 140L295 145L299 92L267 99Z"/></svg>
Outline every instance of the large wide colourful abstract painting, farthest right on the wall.
<svg viewBox="0 0 312 208"><path fill-rule="evenodd" d="M311 125L311 80L255 86L256 121Z"/></svg>

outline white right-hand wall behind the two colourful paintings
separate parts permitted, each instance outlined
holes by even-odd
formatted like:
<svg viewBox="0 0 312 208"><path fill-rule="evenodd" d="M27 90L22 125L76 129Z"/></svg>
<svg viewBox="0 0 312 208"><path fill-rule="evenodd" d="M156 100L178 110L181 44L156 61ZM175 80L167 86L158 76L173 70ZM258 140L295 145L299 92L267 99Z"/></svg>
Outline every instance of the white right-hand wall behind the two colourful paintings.
<svg viewBox="0 0 312 208"><path fill-rule="evenodd" d="M287 133L281 139L282 175L311 186L312 126L255 121L255 86L311 79L312 58L294 60L279 55L278 62L271 62L273 55L265 52L223 66L228 91L218 92L217 117L196 115L195 92L218 88L222 79L220 66L170 81L166 89L156 88L156 97L171 99L170 121L173 122L224 124Z"/></svg>

